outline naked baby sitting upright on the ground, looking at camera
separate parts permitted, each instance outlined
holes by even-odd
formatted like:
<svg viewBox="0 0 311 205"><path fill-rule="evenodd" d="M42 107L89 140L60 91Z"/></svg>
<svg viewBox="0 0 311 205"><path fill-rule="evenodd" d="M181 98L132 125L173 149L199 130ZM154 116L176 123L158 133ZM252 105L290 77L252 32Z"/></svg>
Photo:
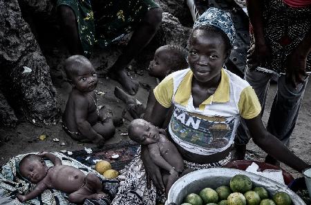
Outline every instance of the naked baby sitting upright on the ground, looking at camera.
<svg viewBox="0 0 311 205"><path fill-rule="evenodd" d="M82 55L74 55L65 61L65 71L73 89L70 92L63 115L62 127L77 141L92 141L103 146L113 137L113 119L97 107L95 88L97 75L91 62Z"/></svg>

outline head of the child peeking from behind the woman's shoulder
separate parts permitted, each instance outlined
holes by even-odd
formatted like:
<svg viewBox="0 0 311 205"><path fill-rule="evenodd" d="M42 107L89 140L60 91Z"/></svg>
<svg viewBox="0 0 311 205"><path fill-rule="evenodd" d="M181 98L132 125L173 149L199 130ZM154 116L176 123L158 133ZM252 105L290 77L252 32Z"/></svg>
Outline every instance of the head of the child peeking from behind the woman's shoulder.
<svg viewBox="0 0 311 205"><path fill-rule="evenodd" d="M149 75L163 79L170 72L188 68L187 50L180 46L161 46L149 65Z"/></svg>

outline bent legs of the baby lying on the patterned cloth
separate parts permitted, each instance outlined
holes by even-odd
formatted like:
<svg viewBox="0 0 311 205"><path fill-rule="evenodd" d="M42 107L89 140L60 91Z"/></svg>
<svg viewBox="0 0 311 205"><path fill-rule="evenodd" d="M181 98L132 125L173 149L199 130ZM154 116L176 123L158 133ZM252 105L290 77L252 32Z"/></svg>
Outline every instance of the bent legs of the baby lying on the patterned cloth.
<svg viewBox="0 0 311 205"><path fill-rule="evenodd" d="M68 200L72 203L82 203L84 199L102 199L103 197L108 197L108 195L102 192L100 178L94 173L88 173L85 177L84 186L71 193Z"/></svg>

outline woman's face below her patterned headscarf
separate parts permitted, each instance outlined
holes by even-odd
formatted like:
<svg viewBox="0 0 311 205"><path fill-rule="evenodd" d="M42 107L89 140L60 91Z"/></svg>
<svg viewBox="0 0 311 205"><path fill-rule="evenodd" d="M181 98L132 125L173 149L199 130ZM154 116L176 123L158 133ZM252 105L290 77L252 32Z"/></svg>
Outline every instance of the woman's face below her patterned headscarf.
<svg viewBox="0 0 311 205"><path fill-rule="evenodd" d="M228 52L220 35L198 28L189 39L189 66L197 81L205 83L218 77Z"/></svg>

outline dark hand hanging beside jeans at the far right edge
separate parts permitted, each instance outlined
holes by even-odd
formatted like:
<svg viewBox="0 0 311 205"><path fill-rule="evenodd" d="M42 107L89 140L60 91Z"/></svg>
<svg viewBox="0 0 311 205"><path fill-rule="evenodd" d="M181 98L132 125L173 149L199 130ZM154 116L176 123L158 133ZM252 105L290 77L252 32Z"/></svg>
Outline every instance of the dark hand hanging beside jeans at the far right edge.
<svg viewBox="0 0 311 205"><path fill-rule="evenodd" d="M305 72L307 56L301 55L299 50L294 50L286 59L286 80L296 88L299 84L303 84L308 77Z"/></svg>

